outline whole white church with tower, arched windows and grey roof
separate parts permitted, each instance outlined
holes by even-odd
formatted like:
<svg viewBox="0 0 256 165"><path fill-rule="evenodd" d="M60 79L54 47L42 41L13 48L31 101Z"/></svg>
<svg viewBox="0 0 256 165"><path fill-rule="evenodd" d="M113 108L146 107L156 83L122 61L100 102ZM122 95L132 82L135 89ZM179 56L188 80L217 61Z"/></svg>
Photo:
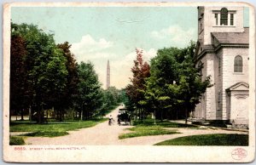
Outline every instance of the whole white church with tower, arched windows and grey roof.
<svg viewBox="0 0 256 165"><path fill-rule="evenodd" d="M243 26L243 7L198 7L195 64L201 79L212 87L202 95L192 118L248 125L249 28Z"/></svg>

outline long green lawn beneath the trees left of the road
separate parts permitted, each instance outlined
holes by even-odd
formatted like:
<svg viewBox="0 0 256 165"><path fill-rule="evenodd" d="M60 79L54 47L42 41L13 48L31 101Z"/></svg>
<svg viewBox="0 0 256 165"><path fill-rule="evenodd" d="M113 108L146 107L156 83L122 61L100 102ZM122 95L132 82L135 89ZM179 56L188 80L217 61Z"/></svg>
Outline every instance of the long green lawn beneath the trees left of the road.
<svg viewBox="0 0 256 165"><path fill-rule="evenodd" d="M11 122L10 132L32 132L25 136L46 136L55 137L68 134L67 131L77 130L79 128L90 128L100 122L108 120L107 118L93 119L88 121L73 121L73 122L49 122L37 124L31 122ZM23 135L24 136L24 135Z"/></svg>

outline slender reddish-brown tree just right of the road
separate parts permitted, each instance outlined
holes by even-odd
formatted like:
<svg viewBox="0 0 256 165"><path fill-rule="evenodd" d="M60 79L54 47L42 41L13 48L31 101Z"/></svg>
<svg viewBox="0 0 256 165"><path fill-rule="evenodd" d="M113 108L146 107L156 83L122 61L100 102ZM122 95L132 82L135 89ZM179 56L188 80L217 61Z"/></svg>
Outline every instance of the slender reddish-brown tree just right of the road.
<svg viewBox="0 0 256 165"><path fill-rule="evenodd" d="M146 78L150 76L150 67L147 62L143 61L143 50L136 49L137 59L134 60L134 66L131 68L133 77L131 77L131 84L129 84L125 90L126 94L131 100L132 104L139 110L139 118L141 119L141 110L144 110L145 106L143 104L145 81Z"/></svg>

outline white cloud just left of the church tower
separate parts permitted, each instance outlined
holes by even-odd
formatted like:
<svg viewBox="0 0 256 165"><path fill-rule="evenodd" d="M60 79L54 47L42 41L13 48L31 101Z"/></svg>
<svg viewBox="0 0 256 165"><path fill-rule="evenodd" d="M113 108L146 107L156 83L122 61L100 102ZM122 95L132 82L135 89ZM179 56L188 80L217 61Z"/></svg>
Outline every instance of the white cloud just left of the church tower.
<svg viewBox="0 0 256 165"><path fill-rule="evenodd" d="M190 40L195 40L196 31L193 28L184 30L181 26L174 25L160 31L152 31L151 37L157 40L166 40L172 46L184 47L188 45Z"/></svg>

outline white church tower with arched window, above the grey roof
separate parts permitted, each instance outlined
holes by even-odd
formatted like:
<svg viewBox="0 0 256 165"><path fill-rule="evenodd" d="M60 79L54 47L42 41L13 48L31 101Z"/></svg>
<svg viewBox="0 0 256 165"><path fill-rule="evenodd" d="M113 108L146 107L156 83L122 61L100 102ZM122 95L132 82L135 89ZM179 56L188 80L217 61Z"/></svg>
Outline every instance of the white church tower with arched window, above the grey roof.
<svg viewBox="0 0 256 165"><path fill-rule="evenodd" d="M243 32L243 7L198 7L198 39L212 44L212 32Z"/></svg>

